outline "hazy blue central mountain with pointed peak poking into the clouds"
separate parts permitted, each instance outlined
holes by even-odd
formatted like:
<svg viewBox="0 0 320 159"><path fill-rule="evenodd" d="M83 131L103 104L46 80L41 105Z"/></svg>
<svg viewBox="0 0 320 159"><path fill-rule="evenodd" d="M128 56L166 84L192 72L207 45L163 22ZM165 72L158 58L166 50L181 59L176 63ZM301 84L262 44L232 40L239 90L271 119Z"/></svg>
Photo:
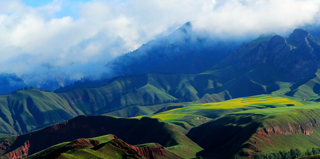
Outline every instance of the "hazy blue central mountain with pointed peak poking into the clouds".
<svg viewBox="0 0 320 159"><path fill-rule="evenodd" d="M187 22L172 34L151 40L139 49L106 64L115 75L158 73L198 73L218 64L241 44L199 33Z"/></svg>

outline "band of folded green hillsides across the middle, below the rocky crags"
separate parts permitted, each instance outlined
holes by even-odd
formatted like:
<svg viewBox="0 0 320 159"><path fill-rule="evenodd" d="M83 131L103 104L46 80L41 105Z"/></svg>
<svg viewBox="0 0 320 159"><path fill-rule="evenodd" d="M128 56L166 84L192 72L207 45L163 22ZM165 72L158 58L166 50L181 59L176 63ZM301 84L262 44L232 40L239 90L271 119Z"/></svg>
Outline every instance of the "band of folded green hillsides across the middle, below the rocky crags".
<svg viewBox="0 0 320 159"><path fill-rule="evenodd" d="M74 89L60 94L22 90L0 96L0 123L4 125L0 134L28 133L77 115L100 115L119 110L108 115L135 117L155 113L169 105L221 102L261 94L288 95L297 100L317 102L320 97L318 77L319 71L309 78L288 81L274 66L263 64L242 70L229 66L192 75L147 74L119 78L104 87ZM237 109L235 111L253 107ZM201 112L207 110L198 111L192 115L220 116L220 110L210 116L206 116L209 112Z"/></svg>

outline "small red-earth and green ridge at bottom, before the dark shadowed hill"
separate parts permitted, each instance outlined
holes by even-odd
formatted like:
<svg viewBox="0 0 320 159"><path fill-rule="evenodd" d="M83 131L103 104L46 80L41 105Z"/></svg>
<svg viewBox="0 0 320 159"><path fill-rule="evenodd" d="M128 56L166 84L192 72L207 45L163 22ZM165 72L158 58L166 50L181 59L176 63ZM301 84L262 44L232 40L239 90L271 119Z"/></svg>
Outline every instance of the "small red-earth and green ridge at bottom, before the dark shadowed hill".
<svg viewBox="0 0 320 159"><path fill-rule="evenodd" d="M26 159L54 158L113 158L113 159L182 159L167 148L156 143L132 146L114 135L92 139L77 139L54 145Z"/></svg>

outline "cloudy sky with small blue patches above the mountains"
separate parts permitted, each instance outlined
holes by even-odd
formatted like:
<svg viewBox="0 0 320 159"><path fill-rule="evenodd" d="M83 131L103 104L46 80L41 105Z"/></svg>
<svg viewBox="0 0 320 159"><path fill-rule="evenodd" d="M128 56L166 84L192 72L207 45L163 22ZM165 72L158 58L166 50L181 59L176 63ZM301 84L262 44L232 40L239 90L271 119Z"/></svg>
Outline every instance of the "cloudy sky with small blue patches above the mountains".
<svg viewBox="0 0 320 159"><path fill-rule="evenodd" d="M319 0L0 0L0 72L27 84L99 78L104 65L188 21L241 38L319 23Z"/></svg>

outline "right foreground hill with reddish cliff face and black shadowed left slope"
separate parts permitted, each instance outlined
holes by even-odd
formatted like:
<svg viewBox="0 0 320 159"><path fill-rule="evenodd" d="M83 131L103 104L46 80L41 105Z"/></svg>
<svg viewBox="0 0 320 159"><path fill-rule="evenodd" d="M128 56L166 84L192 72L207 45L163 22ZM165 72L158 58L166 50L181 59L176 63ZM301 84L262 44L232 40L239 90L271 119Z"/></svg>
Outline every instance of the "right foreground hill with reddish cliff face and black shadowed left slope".
<svg viewBox="0 0 320 159"><path fill-rule="evenodd" d="M319 104L245 110L194 127L187 136L205 149L202 155L247 158L257 152L319 147L319 121Z"/></svg>

